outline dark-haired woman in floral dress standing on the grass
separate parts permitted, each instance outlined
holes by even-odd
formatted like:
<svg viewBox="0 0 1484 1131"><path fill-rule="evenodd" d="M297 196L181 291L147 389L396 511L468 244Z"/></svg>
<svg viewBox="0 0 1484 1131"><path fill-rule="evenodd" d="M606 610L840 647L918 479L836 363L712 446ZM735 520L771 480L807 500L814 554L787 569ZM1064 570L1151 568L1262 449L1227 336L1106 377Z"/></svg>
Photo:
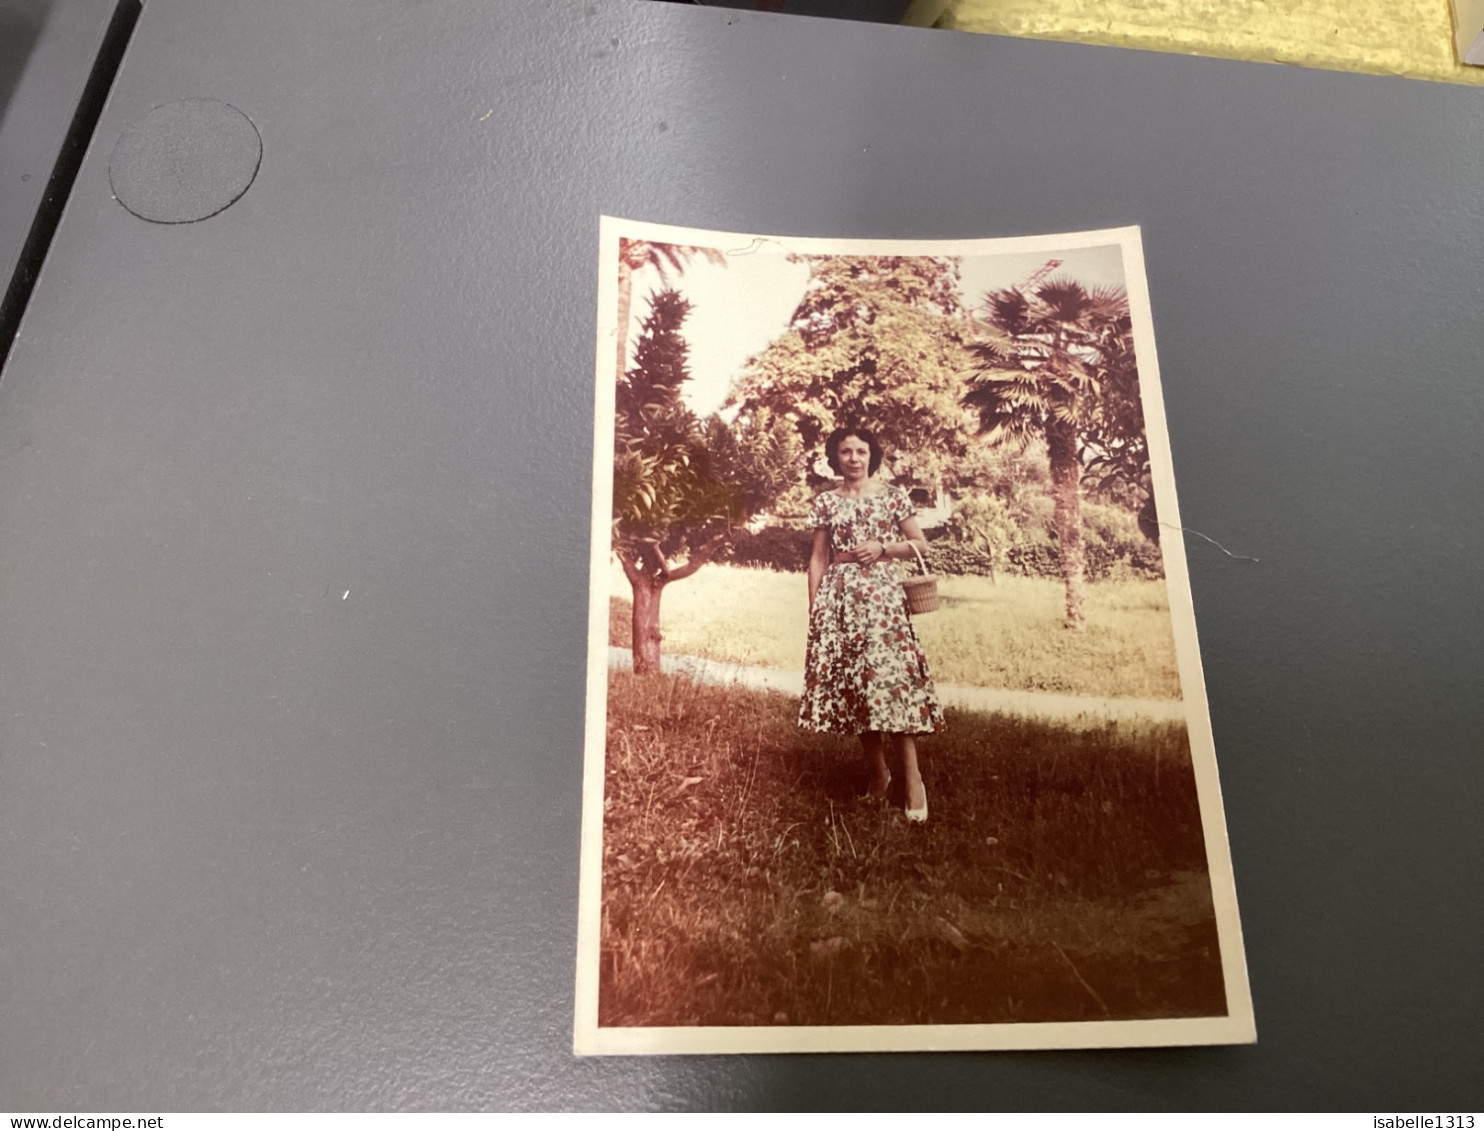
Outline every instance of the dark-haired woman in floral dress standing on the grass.
<svg viewBox="0 0 1484 1131"><path fill-rule="evenodd" d="M809 650L798 726L859 735L867 797L886 797L886 738L901 757L907 819L928 819L917 735L942 726L928 659L907 614L893 560L928 548L907 491L871 476L881 445L864 427L835 429L825 457L841 482L815 496L809 552Z"/></svg>

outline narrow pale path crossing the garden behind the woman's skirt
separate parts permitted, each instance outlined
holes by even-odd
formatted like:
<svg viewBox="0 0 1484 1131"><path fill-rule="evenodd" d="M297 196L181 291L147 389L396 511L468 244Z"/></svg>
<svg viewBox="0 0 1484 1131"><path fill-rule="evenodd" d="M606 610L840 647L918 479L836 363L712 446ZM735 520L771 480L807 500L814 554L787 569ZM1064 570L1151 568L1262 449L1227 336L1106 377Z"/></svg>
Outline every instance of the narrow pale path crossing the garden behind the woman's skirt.
<svg viewBox="0 0 1484 1131"><path fill-rule="evenodd" d="M628 649L610 647L608 666L628 671L634 666L634 658ZM702 683L741 683L745 687L784 692L785 695L804 693L804 674L801 671L729 663L703 656L660 656L659 666L660 671L686 674ZM944 705L966 707L972 711L1082 720L1089 724L1106 723L1112 718L1168 721L1186 717L1186 705L1180 699L1097 699L1082 695L963 687L951 683L938 684L938 698L942 699Z"/></svg>

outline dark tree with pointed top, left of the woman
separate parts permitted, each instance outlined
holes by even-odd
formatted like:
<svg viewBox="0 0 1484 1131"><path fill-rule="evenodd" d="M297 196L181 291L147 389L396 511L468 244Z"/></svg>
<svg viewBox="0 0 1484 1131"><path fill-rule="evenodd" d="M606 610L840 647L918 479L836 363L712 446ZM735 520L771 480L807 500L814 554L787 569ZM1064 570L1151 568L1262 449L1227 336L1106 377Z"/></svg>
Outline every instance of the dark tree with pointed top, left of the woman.
<svg viewBox="0 0 1484 1131"><path fill-rule="evenodd" d="M634 589L637 672L659 671L665 586L711 561L746 517L743 491L720 473L705 429L680 398L690 380L680 334L689 313L678 291L650 298L634 367L614 396L613 549Z"/></svg>

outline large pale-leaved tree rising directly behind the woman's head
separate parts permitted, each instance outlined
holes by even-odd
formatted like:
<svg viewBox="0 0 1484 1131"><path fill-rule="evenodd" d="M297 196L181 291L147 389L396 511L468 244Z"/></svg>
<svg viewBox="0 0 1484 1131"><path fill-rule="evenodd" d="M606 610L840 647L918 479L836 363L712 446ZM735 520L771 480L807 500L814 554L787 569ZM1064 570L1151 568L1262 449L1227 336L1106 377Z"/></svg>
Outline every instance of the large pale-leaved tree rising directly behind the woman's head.
<svg viewBox="0 0 1484 1131"><path fill-rule="evenodd" d="M933 481L969 439L959 396L968 322L959 264L928 255L803 255L809 283L788 330L748 361L729 404L746 426L791 420L804 469L843 423L890 439L893 469ZM795 471L798 478L803 475Z"/></svg>

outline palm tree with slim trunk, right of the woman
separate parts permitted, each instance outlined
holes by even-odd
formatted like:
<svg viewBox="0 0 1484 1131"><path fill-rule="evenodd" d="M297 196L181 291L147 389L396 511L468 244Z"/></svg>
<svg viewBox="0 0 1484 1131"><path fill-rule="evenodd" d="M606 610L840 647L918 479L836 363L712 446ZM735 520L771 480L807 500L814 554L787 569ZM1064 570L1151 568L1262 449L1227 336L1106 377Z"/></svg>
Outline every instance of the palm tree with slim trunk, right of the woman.
<svg viewBox="0 0 1484 1131"><path fill-rule="evenodd" d="M1146 476L1149 471L1128 294L1054 278L1028 294L1015 286L994 291L985 310L988 327L969 346L974 370L963 404L978 411L979 432L993 442L1024 448L1045 441L1064 623L1082 631L1083 468L1126 475L1143 451Z"/></svg>

